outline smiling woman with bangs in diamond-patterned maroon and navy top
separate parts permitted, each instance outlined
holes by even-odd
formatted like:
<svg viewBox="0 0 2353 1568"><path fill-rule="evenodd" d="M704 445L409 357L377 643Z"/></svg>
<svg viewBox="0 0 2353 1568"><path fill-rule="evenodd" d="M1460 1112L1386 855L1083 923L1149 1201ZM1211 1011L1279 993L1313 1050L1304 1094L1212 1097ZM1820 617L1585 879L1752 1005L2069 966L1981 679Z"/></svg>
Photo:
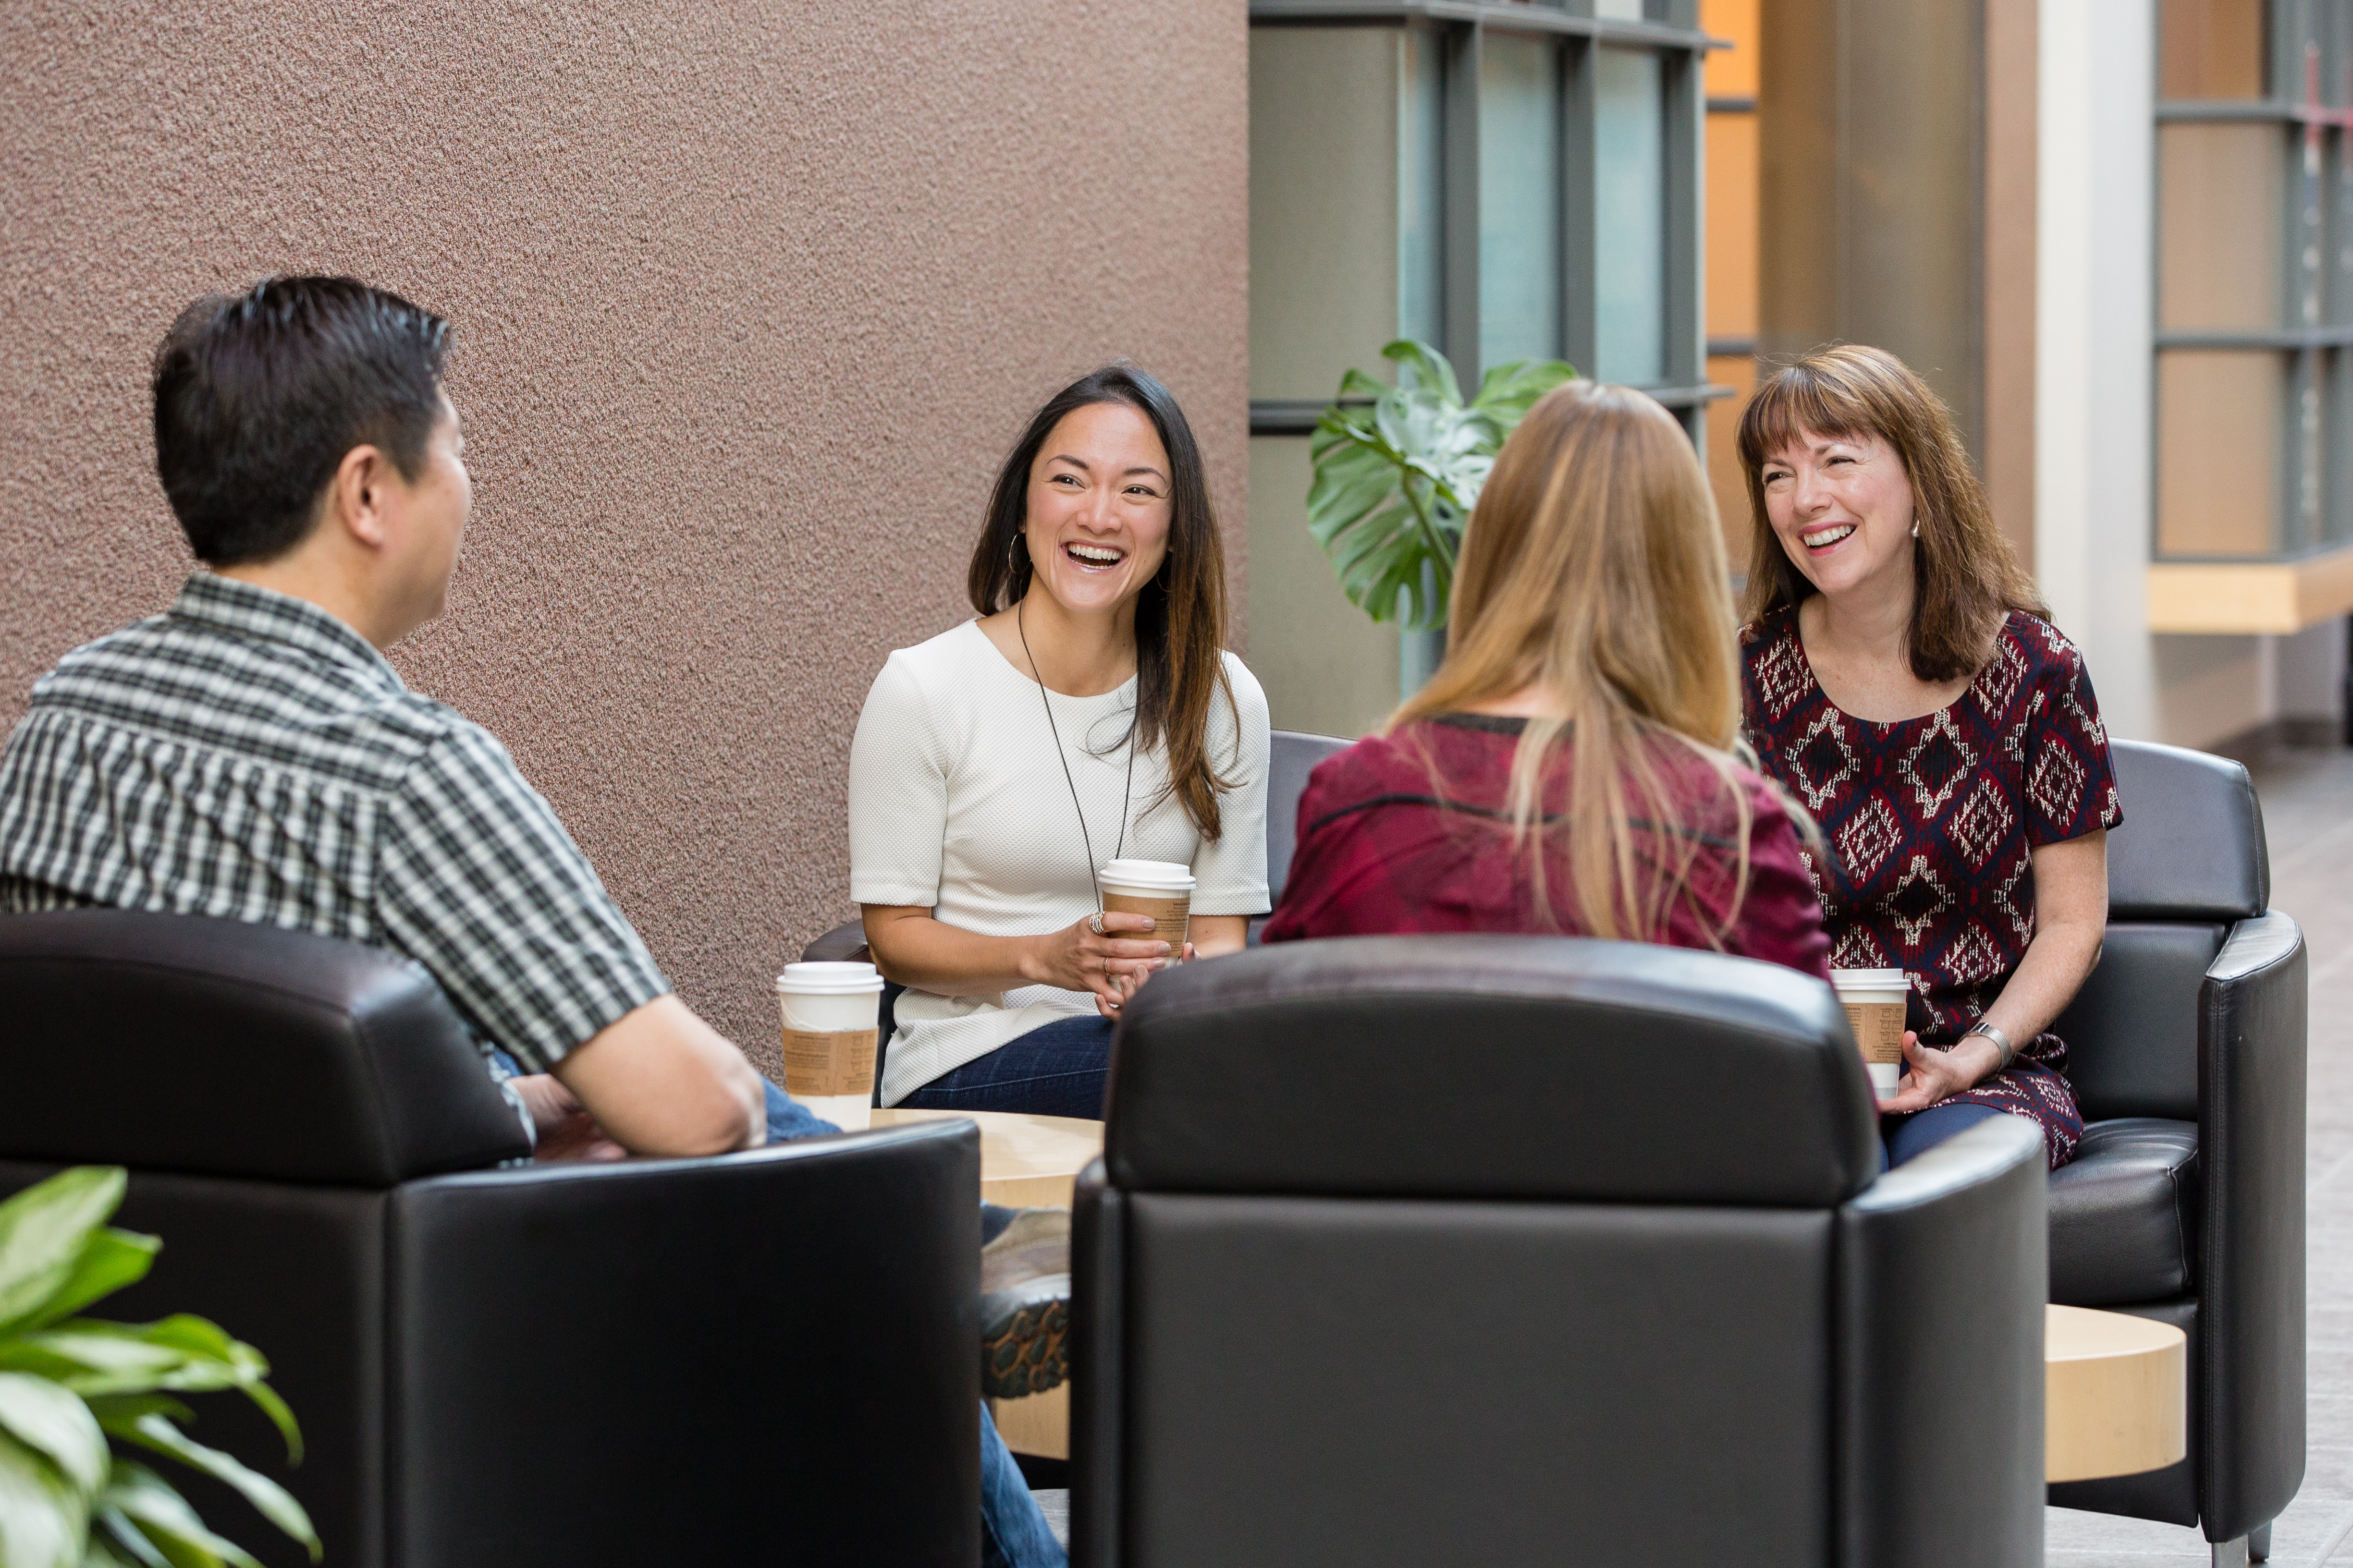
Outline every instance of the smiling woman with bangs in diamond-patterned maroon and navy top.
<svg viewBox="0 0 2353 1568"><path fill-rule="evenodd" d="M1748 738L1824 827L1831 961L1911 983L1889 1161L2007 1112L2059 1168L2082 1114L2049 1025L2099 959L2122 820L2082 656L1894 355L1777 371L1741 468Z"/></svg>

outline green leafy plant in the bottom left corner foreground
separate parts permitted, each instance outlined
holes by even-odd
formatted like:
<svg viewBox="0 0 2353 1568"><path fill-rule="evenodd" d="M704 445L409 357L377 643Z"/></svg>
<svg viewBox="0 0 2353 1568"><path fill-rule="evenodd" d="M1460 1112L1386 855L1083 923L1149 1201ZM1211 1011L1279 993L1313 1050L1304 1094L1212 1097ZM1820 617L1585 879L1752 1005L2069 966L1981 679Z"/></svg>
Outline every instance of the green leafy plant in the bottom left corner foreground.
<svg viewBox="0 0 2353 1568"><path fill-rule="evenodd" d="M162 1246L106 1222L125 1185L120 1168L80 1166L0 1204L0 1568L259 1568L129 1458L141 1448L226 1481L318 1561L282 1486L176 1425L193 1413L174 1394L242 1389L299 1462L301 1432L261 1352L200 1316L75 1316L141 1279Z"/></svg>

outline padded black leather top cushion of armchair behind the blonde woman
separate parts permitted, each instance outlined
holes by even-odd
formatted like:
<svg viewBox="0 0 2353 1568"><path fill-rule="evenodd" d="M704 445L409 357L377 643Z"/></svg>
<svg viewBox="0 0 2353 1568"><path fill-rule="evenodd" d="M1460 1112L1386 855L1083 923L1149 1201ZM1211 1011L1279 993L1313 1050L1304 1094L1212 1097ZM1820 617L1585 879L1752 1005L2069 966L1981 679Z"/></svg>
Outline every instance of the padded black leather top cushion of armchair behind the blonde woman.
<svg viewBox="0 0 2353 1568"><path fill-rule="evenodd" d="M1821 1206L1871 1086L1821 980L1551 936L1278 943L1160 973L1113 1044L1127 1192Z"/></svg>

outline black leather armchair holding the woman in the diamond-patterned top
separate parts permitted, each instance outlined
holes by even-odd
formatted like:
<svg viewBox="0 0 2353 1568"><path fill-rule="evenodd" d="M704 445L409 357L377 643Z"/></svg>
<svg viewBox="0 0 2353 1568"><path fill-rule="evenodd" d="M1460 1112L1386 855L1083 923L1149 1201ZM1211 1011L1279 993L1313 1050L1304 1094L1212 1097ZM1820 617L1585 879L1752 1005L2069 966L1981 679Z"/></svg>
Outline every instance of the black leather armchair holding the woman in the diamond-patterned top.
<svg viewBox="0 0 2353 1568"><path fill-rule="evenodd" d="M2049 1182L2052 1300L2181 1326L2191 1453L2061 1507L2268 1549L2304 1481L2304 933L2247 769L2115 743L2108 940L2054 1025L2085 1140Z"/></svg>

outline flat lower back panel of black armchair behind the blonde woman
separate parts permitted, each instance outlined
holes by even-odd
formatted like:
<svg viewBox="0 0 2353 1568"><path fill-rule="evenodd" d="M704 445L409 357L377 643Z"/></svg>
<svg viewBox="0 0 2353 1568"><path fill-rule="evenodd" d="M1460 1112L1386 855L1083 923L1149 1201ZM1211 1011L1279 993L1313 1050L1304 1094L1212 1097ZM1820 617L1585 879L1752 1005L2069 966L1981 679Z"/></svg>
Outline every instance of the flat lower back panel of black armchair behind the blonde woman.
<svg viewBox="0 0 2353 1568"><path fill-rule="evenodd" d="M1120 1208L1127 1563L1835 1561L1835 1211Z"/></svg>

